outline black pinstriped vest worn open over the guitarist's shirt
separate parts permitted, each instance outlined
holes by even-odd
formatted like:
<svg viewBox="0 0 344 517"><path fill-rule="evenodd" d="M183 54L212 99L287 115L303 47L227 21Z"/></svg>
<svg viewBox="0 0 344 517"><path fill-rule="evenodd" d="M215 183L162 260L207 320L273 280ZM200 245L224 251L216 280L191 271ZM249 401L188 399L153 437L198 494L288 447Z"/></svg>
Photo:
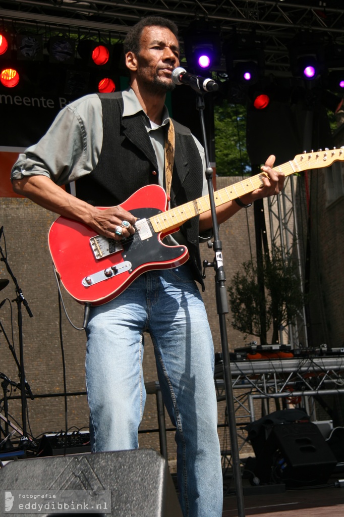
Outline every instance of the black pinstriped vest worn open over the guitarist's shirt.
<svg viewBox="0 0 344 517"><path fill-rule="evenodd" d="M122 118L121 92L99 94L103 113L103 144L98 164L76 181L76 195L93 206L114 206L136 190L158 183L158 163L144 124L144 113ZM174 121L175 162L170 192L171 207L202 195L203 169L190 129ZM156 171L157 174L153 174ZM194 277L202 286L198 217L181 227L190 253Z"/></svg>

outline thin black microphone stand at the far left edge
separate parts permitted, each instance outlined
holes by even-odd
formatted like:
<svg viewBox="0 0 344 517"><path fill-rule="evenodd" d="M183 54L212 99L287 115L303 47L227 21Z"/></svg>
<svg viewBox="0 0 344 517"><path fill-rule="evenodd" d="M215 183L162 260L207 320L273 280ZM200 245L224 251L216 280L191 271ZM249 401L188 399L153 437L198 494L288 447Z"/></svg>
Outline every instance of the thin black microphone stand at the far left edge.
<svg viewBox="0 0 344 517"><path fill-rule="evenodd" d="M26 430L26 390L29 394L30 399L34 400L33 393L31 391L30 386L28 385L26 378L25 378L25 371L24 371L24 347L23 347L23 319L22 319L22 310L21 310L21 304L23 303L25 306L25 309L30 316L30 318L33 317L32 312L30 311L30 308L28 306L27 301L24 298L23 292L21 288L18 285L17 279L14 277L11 268L7 262L7 257L4 255L4 252L2 250L2 247L0 246L0 254L1 254L1 261L5 263L6 269L9 272L14 285L15 285L15 292L18 294L17 298L15 298L12 301L17 302L17 308L18 308L18 334L19 334L19 354L20 354L20 362L17 366L19 366L19 378L20 378L20 390L21 390L21 403L22 403L22 429L23 429L23 436L21 437L21 444L25 448L25 446L28 444L28 436L27 436L27 430Z"/></svg>

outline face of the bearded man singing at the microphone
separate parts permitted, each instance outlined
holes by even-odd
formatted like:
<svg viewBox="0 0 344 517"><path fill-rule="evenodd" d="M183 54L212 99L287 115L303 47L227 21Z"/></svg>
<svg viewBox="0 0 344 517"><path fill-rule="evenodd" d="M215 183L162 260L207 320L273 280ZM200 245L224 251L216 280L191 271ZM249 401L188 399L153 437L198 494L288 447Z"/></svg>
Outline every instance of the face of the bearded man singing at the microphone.
<svg viewBox="0 0 344 517"><path fill-rule="evenodd" d="M166 27L144 27L137 58L137 81L156 91L173 89L172 71L179 66L179 44Z"/></svg>

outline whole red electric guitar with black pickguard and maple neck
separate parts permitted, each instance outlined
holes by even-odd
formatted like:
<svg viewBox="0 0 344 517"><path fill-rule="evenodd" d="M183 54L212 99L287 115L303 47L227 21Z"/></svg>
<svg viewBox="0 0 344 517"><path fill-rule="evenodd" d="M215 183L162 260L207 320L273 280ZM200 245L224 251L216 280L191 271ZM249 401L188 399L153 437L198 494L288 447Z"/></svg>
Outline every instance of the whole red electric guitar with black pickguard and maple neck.
<svg viewBox="0 0 344 517"><path fill-rule="evenodd" d="M328 167L338 160L344 160L342 148L312 151L297 155L274 170L289 176ZM261 187L263 174L218 190L214 193L215 205L221 206ZM166 210L166 194L158 185L137 190L121 206L138 218L135 234L121 241L97 235L86 224L62 216L51 226L49 247L56 271L68 293L80 303L102 305L145 271L184 264L189 258L187 248L166 246L161 239L176 232L185 221L210 210L208 195Z"/></svg>

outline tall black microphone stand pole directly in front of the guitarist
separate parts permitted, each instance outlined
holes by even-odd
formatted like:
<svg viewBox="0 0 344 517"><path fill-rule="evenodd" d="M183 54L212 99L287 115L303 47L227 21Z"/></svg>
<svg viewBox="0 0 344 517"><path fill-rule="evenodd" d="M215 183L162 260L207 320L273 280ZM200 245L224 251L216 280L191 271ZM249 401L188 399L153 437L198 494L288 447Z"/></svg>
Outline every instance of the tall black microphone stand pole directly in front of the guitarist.
<svg viewBox="0 0 344 517"><path fill-rule="evenodd" d="M196 88L195 88L196 89ZM233 475L234 481L236 484L236 496L237 496L237 505L238 505L238 517L245 516L245 508L244 508L244 496L242 489L242 479L241 479L241 469L240 469L240 457L239 457L239 447L238 447L238 437L237 437L237 422L234 410L234 401L233 401L233 388L232 388L232 376L230 372L230 359L228 352L228 340L227 340L227 329L226 329L226 320L225 314L228 314L228 299L227 299L227 290L225 286L225 272L223 268L223 256L222 256L222 242L218 235L218 224L216 218L216 208L214 201L214 188L213 188L213 170L210 166L209 154L208 154L208 144L207 144L207 134L206 134L206 125L204 119L204 93L196 90L197 98L196 98L196 108L199 111L200 124L201 124L201 132L205 150L205 159L206 159L206 177L208 182L208 190L209 190L209 200L210 200L210 208L213 222L213 234L214 241L212 242L212 248L214 250L214 262L208 263L204 261L204 267L213 267L215 269L215 293L216 293L216 307L217 314L220 322L220 334L221 334L221 344L222 344L222 357L223 357L223 375L224 375L224 385L225 385L225 393L226 393L226 403L227 403L227 411L228 411L228 422L229 422L229 434L230 434L230 443L231 443L231 456L232 456L232 467L233 467Z"/></svg>

